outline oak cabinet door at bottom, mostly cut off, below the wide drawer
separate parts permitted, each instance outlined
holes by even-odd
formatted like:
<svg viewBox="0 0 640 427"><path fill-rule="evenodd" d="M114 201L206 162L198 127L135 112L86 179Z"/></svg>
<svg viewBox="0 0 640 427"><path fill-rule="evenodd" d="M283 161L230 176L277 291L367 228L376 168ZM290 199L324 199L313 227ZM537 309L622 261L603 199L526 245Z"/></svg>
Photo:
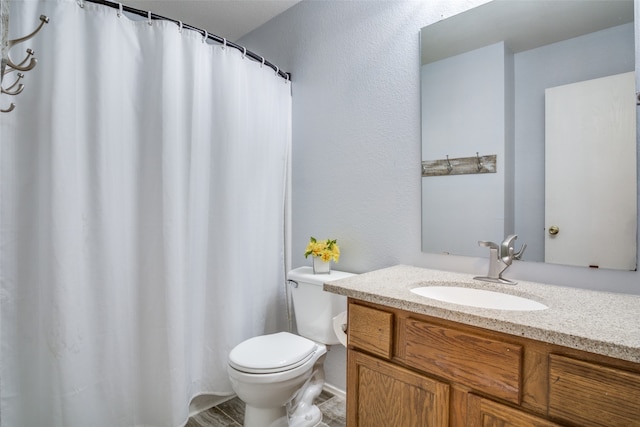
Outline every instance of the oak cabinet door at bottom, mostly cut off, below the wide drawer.
<svg viewBox="0 0 640 427"><path fill-rule="evenodd" d="M467 402L468 427L560 427L560 424L474 394L469 395Z"/></svg>

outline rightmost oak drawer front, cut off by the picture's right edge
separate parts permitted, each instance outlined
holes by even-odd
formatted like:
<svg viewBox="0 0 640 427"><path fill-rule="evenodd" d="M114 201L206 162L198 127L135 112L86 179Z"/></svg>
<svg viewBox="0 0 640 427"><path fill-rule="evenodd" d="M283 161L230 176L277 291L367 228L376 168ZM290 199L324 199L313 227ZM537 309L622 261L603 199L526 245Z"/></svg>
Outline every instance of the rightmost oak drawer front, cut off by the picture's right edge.
<svg viewBox="0 0 640 427"><path fill-rule="evenodd" d="M640 426L640 375L549 355L549 415L581 426Z"/></svg>

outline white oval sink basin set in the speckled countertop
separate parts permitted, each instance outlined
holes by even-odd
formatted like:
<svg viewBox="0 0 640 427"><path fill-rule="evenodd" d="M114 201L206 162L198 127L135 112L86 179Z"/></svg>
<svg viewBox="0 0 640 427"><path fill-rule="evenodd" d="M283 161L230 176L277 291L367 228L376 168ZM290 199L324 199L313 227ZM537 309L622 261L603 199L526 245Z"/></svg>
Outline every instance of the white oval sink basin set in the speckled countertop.
<svg viewBox="0 0 640 427"><path fill-rule="evenodd" d="M438 301L495 310L534 311L548 308L528 298L461 286L422 286L411 289L411 292Z"/></svg>

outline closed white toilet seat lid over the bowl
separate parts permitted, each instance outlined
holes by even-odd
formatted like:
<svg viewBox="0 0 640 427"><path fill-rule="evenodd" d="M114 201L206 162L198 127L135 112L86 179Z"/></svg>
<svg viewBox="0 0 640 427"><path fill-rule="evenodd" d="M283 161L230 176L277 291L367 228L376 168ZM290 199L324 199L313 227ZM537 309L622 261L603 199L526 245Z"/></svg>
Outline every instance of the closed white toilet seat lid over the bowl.
<svg viewBox="0 0 640 427"><path fill-rule="evenodd" d="M317 344L304 337L279 332L249 338L229 353L229 364L238 371L274 373L288 371L309 360Z"/></svg>

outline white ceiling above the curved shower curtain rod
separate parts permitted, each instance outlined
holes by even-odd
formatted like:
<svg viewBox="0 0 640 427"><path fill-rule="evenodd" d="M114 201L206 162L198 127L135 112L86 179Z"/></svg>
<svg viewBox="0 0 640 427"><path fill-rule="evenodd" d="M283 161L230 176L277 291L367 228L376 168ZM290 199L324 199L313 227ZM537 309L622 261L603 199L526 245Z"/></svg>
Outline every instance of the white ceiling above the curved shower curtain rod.
<svg viewBox="0 0 640 427"><path fill-rule="evenodd" d="M300 0L124 0L235 42Z"/></svg>

